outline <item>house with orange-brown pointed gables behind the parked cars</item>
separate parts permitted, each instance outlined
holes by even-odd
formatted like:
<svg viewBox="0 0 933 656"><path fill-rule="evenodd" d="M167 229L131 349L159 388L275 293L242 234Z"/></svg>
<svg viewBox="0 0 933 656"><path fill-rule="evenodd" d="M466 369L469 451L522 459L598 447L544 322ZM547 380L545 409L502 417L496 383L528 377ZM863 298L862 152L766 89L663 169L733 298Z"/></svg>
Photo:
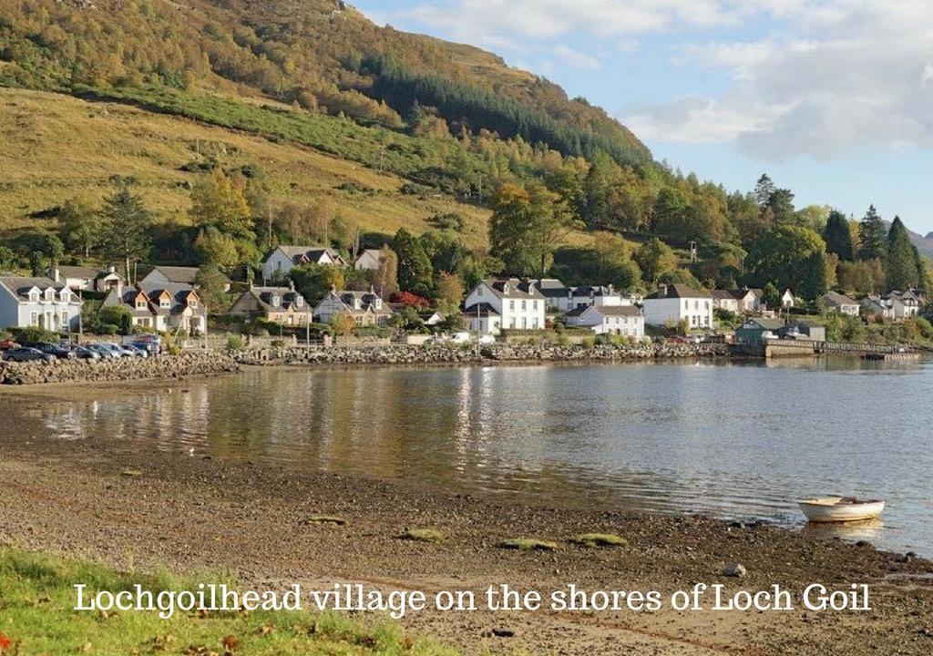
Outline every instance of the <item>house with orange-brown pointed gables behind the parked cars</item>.
<svg viewBox="0 0 933 656"><path fill-rule="evenodd" d="M207 332L207 309L190 285L116 286L104 298L103 307L111 305L129 308L133 326L192 335Z"/></svg>

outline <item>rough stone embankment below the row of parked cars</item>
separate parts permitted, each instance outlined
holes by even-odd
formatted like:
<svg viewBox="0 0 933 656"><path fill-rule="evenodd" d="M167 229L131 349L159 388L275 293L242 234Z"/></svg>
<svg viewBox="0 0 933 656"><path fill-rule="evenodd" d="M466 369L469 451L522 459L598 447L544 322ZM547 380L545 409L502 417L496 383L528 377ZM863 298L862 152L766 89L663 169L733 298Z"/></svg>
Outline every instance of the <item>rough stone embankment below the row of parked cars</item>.
<svg viewBox="0 0 933 656"><path fill-rule="evenodd" d="M238 370L240 366L232 356L219 352L116 360L0 362L0 384L145 381Z"/></svg>

